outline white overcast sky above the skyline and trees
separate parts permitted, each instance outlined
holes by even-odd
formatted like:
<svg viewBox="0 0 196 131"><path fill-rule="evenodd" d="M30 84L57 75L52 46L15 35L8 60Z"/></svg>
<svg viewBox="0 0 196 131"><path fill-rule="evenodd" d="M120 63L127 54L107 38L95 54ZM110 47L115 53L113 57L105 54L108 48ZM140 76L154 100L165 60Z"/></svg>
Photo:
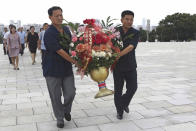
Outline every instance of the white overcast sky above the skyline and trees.
<svg viewBox="0 0 196 131"><path fill-rule="evenodd" d="M10 20L21 20L23 24L50 23L47 10L60 6L63 16L72 22L86 18L117 18L123 10L135 13L134 25L142 25L143 19L150 19L151 25L158 25L167 15L180 13L196 14L195 0L1 0L0 23L8 25Z"/></svg>

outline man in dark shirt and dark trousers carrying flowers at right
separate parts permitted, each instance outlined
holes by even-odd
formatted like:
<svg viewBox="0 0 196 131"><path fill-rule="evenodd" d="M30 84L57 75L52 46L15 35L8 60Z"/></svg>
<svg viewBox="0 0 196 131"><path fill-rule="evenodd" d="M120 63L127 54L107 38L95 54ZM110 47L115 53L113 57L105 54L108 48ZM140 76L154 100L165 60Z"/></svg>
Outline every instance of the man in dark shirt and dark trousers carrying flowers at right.
<svg viewBox="0 0 196 131"><path fill-rule="evenodd" d="M121 14L122 26L118 28L123 40L123 49L114 68L114 103L117 110L117 119L123 118L123 112L129 113L129 104L137 90L137 63L135 49L139 40L139 31L132 27L134 13L130 10ZM126 93L122 94L124 81Z"/></svg>

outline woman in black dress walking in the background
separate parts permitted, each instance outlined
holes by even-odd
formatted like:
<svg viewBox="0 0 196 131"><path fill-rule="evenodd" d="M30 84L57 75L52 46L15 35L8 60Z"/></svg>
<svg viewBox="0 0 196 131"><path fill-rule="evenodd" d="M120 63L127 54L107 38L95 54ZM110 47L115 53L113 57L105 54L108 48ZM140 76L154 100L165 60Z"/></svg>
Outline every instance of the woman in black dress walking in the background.
<svg viewBox="0 0 196 131"><path fill-rule="evenodd" d="M30 33L27 36L27 44L28 44L28 47L29 47L29 51L31 53L32 65L34 65L35 62L36 62L35 57L36 57L38 40L39 40L39 36L35 32L35 27L31 26L30 27Z"/></svg>

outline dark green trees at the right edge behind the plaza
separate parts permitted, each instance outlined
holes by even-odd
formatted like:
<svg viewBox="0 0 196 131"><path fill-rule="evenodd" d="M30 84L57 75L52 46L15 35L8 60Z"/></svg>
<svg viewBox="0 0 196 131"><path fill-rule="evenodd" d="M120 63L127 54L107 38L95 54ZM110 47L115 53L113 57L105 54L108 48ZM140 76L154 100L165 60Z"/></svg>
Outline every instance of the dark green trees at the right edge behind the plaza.
<svg viewBox="0 0 196 131"><path fill-rule="evenodd" d="M196 39L196 14L175 13L161 20L156 33L159 41Z"/></svg>

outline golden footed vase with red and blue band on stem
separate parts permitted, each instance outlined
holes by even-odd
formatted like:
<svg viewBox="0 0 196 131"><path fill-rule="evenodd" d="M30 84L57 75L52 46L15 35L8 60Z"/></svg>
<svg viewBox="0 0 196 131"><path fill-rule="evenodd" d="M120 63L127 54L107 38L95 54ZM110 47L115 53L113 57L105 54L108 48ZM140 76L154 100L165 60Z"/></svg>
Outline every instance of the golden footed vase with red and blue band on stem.
<svg viewBox="0 0 196 131"><path fill-rule="evenodd" d="M109 71L106 67L99 67L98 69L93 69L90 71L91 79L98 82L99 91L95 95L95 98L100 98L108 95L114 94L114 91L106 88L105 80L109 75Z"/></svg>

